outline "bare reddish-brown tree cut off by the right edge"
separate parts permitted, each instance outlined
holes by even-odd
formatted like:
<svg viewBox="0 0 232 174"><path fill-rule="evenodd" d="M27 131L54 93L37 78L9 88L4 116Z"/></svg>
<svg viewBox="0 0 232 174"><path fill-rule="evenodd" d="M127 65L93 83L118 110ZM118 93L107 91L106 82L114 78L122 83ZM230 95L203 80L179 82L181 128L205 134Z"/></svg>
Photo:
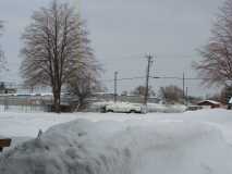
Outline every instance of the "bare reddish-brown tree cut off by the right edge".
<svg viewBox="0 0 232 174"><path fill-rule="evenodd" d="M232 1L220 9L211 29L209 42L199 50L203 61L194 66L208 85L224 84L232 79Z"/></svg>

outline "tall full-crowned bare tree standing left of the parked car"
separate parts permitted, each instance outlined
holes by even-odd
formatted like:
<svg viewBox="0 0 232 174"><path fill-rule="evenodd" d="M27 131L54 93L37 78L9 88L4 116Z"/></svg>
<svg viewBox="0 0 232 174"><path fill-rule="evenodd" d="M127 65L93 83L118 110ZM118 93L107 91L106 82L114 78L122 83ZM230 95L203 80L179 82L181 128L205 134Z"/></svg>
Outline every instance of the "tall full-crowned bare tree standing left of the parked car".
<svg viewBox="0 0 232 174"><path fill-rule="evenodd" d="M52 88L53 105L60 112L61 88L96 62L87 32L74 8L53 0L34 12L23 34L22 75L29 86ZM89 72L88 72L89 73Z"/></svg>

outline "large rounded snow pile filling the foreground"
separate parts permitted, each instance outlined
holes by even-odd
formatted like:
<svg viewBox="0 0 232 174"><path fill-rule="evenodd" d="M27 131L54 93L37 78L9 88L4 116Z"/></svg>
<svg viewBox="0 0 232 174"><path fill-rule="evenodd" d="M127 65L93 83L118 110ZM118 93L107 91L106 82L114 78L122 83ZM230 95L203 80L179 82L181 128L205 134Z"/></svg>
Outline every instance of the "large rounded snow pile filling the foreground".
<svg viewBox="0 0 232 174"><path fill-rule="evenodd" d="M77 120L49 128L0 159L1 174L231 174L220 130L183 121Z"/></svg>

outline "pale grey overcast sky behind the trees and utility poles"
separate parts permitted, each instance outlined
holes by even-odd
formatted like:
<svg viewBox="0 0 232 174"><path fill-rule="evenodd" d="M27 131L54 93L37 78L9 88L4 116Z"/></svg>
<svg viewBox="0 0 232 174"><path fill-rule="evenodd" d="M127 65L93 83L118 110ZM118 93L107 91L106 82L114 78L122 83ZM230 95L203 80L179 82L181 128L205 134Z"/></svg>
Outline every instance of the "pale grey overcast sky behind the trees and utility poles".
<svg viewBox="0 0 232 174"><path fill-rule="evenodd" d="M80 8L75 1L66 0ZM1 80L20 80L19 66L22 48L20 40L33 11L47 5L49 0L1 0L0 20L5 21L0 39L9 61L10 71ZM223 0L83 0L81 15L87 21L91 47L102 64L102 79L145 76L146 59L155 57L151 75L195 77L192 62L200 60L196 49L205 45L210 28ZM131 90L143 80L120 82L119 90ZM151 80L157 90L163 85L179 85L170 79ZM109 91L113 84L106 83ZM203 95L217 89L206 89L197 82L187 82L191 95Z"/></svg>

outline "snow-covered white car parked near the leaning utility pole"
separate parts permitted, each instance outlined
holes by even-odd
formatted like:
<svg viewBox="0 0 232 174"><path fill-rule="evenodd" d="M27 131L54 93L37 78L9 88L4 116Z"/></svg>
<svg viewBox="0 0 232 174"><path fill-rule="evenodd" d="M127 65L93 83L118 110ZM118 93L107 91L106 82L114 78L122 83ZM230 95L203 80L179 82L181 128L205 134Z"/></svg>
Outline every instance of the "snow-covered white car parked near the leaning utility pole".
<svg viewBox="0 0 232 174"><path fill-rule="evenodd" d="M145 108L142 104L130 102L115 102L107 104L106 112L121 112L121 113L146 113Z"/></svg>

